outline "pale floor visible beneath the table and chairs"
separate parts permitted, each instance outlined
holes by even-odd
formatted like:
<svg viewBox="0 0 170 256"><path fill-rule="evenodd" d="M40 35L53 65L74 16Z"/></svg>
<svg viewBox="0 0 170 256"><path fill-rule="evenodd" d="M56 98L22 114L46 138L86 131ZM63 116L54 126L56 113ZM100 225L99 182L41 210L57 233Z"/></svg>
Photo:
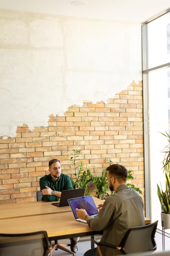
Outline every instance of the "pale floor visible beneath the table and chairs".
<svg viewBox="0 0 170 256"><path fill-rule="evenodd" d="M159 234L158 232L156 232L155 240L156 240L156 243L157 243L157 250L155 252L162 252L162 235ZM64 241L68 242L68 240L63 240L63 242ZM62 240L60 240L60 243L61 242L62 242ZM80 238L80 240L78 242L78 251L76 253L76 256L83 256L84 253L88 249L91 249L90 238L89 237L82 237L82 238ZM170 252L170 238L167 237L167 236L165 237L165 251L169 251ZM64 251L62 251L60 249L58 249L57 251L53 252L53 256L60 256L60 255L61 256L69 256L71 254L68 254L67 252L64 252Z"/></svg>

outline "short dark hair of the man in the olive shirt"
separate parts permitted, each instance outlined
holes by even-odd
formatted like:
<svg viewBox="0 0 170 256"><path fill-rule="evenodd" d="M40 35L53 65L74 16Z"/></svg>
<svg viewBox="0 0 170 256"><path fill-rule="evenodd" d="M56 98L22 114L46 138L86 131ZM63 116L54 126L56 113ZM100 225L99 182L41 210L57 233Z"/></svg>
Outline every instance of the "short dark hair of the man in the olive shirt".
<svg viewBox="0 0 170 256"><path fill-rule="evenodd" d="M123 165L111 164L106 168L106 170L108 171L109 176L115 177L119 182L121 182L122 180L126 182L128 171Z"/></svg>

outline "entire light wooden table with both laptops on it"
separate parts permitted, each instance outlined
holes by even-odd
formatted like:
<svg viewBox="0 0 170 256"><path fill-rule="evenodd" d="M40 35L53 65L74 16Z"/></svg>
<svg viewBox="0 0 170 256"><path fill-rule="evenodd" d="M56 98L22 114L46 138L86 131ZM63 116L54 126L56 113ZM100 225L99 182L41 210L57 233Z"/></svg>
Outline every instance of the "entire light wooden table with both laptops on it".
<svg viewBox="0 0 170 256"><path fill-rule="evenodd" d="M95 204L103 202L94 198ZM145 218L146 224L150 219ZM102 234L86 223L75 220L71 208L56 207L51 202L27 202L0 206L0 233L19 234L46 230L49 240Z"/></svg>

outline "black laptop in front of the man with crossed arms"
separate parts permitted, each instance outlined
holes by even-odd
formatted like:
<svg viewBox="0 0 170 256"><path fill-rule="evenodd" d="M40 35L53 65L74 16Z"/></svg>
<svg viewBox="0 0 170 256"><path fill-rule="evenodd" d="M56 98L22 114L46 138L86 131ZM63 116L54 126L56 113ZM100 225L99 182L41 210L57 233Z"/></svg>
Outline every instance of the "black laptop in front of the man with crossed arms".
<svg viewBox="0 0 170 256"><path fill-rule="evenodd" d="M68 206L68 198L77 198L79 196L84 195L85 189L69 189L69 190L62 190L62 194L60 197L60 202L52 203L57 207Z"/></svg>

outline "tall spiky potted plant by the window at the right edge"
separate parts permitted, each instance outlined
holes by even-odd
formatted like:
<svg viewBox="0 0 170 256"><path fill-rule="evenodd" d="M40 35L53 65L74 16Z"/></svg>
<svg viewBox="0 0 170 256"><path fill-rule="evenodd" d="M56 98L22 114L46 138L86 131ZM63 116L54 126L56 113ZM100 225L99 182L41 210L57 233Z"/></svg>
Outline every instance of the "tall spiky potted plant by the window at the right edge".
<svg viewBox="0 0 170 256"><path fill-rule="evenodd" d="M165 229L170 229L170 135L161 133L168 139L168 145L164 148L163 153L163 173L165 175L165 187L157 184L157 194L161 203L161 225Z"/></svg>

